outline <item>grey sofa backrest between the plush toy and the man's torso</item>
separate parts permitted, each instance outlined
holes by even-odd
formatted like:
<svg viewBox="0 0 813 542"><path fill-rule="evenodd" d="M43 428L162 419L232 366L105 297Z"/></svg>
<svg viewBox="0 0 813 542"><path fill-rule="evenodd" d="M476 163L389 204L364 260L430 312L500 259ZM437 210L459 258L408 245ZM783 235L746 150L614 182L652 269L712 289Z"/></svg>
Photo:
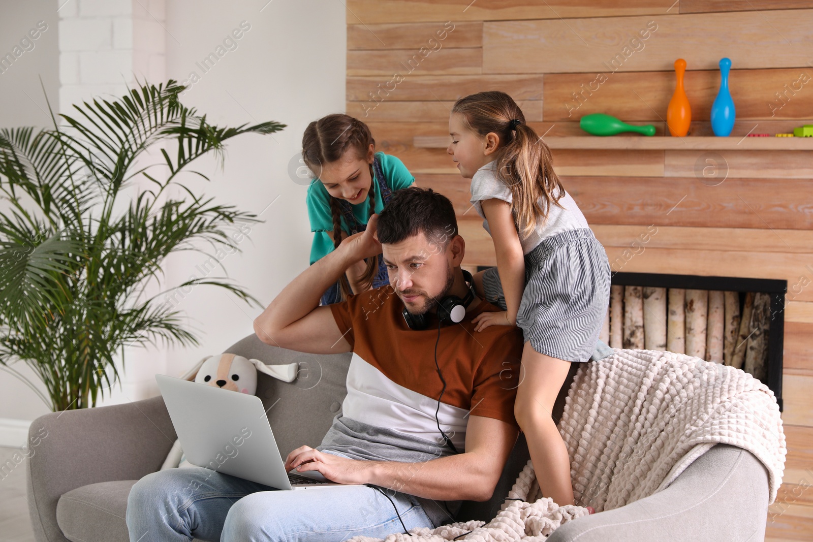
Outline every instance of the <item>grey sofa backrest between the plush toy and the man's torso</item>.
<svg viewBox="0 0 813 542"><path fill-rule="evenodd" d="M352 353L296 352L267 345L256 334L238 340L224 352L268 365L297 363L297 379L291 383L258 373L256 395L263 401L283 459L303 444L315 448L322 442L333 418L341 414Z"/></svg>

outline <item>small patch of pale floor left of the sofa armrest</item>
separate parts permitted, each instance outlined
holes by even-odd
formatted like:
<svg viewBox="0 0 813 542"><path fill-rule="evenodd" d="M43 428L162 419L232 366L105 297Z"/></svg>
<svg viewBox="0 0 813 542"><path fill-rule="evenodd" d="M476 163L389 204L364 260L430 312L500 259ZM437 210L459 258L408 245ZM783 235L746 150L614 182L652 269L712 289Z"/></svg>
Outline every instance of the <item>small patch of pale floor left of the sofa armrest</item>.
<svg viewBox="0 0 813 542"><path fill-rule="evenodd" d="M18 448L0 446L0 465L5 464ZM14 465L14 462L11 462ZM8 468L8 467L7 467ZM7 474L8 473L8 474ZM28 517L28 501L25 495L25 463L15 466L11 472L0 472L0 540L2 542L34 542L31 518Z"/></svg>

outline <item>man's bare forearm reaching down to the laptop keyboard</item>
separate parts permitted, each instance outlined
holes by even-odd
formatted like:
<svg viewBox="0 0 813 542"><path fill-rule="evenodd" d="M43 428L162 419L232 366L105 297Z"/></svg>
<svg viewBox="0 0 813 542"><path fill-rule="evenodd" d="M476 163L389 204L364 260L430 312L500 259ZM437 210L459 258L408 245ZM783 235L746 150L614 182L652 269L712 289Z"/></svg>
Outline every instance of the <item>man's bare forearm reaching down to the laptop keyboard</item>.
<svg viewBox="0 0 813 542"><path fill-rule="evenodd" d="M358 461L308 446L293 450L285 470L319 470L340 483L372 483L437 501L488 501L519 431L509 423L469 416L466 451L425 462Z"/></svg>

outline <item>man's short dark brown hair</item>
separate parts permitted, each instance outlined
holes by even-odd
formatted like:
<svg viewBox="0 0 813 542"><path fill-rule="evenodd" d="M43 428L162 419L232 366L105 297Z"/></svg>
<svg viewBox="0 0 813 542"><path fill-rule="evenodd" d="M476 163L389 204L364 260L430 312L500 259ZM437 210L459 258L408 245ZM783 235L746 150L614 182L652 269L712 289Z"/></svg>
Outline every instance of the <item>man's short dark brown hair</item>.
<svg viewBox="0 0 813 542"><path fill-rule="evenodd" d="M395 191L379 215L378 241L388 245L399 243L419 232L424 232L439 250L446 249L458 234L452 202L433 189L411 186Z"/></svg>

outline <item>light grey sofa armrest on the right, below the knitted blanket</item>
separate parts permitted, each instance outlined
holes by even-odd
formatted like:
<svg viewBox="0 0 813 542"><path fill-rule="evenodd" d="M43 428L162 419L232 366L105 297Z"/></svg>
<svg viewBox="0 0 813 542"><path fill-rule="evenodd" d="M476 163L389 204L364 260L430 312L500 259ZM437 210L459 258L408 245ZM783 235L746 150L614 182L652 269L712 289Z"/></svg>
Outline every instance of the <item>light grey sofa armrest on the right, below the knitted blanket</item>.
<svg viewBox="0 0 813 542"><path fill-rule="evenodd" d="M696 542L765 539L768 475L746 449L715 444L668 488L620 508L576 518L548 542Z"/></svg>

